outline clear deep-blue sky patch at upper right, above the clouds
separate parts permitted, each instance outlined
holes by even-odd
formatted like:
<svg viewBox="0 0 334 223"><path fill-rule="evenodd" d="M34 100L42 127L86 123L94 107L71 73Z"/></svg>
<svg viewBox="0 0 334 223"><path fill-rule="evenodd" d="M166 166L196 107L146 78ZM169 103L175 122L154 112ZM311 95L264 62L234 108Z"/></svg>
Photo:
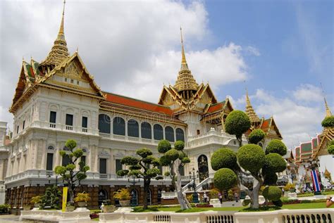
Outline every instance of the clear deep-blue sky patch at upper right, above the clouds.
<svg viewBox="0 0 334 223"><path fill-rule="evenodd" d="M214 34L209 48L235 42L261 53L245 56L249 91L264 87L283 96L301 83L322 82L333 105L333 1L206 1L206 7ZM242 96L240 85L222 94Z"/></svg>

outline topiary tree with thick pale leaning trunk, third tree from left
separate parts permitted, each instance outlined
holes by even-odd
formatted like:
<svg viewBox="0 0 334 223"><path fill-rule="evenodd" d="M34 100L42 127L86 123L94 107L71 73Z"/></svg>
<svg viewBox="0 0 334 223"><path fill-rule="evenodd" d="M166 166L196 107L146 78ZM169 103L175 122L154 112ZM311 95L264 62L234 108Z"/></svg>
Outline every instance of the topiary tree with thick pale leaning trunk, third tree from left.
<svg viewBox="0 0 334 223"><path fill-rule="evenodd" d="M181 185L180 168L186 163L190 163L190 159L183 151L184 148L185 143L183 141L175 141L174 148L172 148L171 143L167 140L161 140L158 145L159 153L163 154L160 158L160 163L163 166L168 166L171 170L168 174L171 177L172 184L178 193L178 202L180 203L181 210L191 208L190 203L182 192Z"/></svg>

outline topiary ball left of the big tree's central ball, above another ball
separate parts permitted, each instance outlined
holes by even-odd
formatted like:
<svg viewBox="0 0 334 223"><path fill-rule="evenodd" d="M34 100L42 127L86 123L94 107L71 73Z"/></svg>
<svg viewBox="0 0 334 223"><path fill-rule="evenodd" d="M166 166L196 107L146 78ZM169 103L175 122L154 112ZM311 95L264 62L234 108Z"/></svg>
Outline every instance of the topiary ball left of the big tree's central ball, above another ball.
<svg viewBox="0 0 334 223"><path fill-rule="evenodd" d="M230 148L220 148L211 156L213 170L221 168L235 169L237 167L237 155Z"/></svg>

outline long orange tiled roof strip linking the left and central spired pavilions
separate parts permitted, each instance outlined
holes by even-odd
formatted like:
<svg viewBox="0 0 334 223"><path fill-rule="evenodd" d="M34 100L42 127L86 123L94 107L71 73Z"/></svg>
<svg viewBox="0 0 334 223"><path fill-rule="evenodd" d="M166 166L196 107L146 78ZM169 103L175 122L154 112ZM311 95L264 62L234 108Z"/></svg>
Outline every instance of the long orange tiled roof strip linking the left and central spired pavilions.
<svg viewBox="0 0 334 223"><path fill-rule="evenodd" d="M105 91L104 94L106 94L106 101L109 101L111 103L118 103L123 106L130 106L133 108L139 108L142 110L149 110L151 112L163 113L173 116L173 111L171 110L171 108L161 106L159 104L150 103L147 101L140 101L134 98L128 98L126 96L120 96L118 94L111 94Z"/></svg>

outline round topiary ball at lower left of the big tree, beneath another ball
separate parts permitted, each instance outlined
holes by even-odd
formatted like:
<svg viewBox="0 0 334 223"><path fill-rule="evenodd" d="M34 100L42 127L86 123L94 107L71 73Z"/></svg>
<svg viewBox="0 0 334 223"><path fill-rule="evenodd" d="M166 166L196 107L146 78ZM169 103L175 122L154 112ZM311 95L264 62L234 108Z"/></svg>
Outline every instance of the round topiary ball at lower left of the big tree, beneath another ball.
<svg viewBox="0 0 334 223"><path fill-rule="evenodd" d="M214 174L214 186L221 191L231 189L235 184L237 184L237 175L233 170L223 168Z"/></svg>

